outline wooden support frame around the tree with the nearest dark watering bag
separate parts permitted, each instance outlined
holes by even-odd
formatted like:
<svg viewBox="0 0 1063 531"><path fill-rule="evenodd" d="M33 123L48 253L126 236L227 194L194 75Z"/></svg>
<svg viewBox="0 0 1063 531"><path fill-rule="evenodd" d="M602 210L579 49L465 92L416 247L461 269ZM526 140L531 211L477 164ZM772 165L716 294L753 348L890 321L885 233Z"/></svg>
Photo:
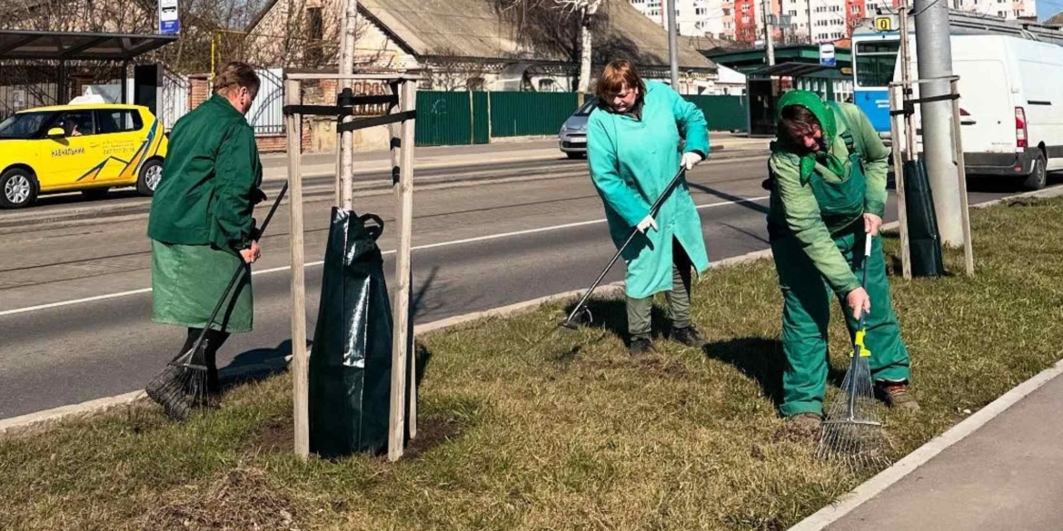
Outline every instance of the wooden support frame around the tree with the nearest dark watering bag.
<svg viewBox="0 0 1063 531"><path fill-rule="evenodd" d="M337 80L340 82L381 81L392 87L391 96L354 97L341 93L336 106L302 105L302 81ZM303 116L333 116L337 119L337 137L348 138L343 132L388 125L391 132L391 175L395 193L395 219L399 226L399 249L395 253L395 304L393 307L393 337L391 353L391 397L388 419L388 459L399 460L404 450L406 429L409 436L417 436L417 362L412 346L410 299L412 274L410 247L414 221L414 132L417 119L416 72L394 74L318 73L285 74L285 107L288 137L288 186L291 189L291 339L292 339L292 392L294 393L296 453L309 456L309 354L306 348L306 295L303 274L303 202L302 202L302 120ZM389 103L391 112L385 116L351 119L355 105ZM337 145L337 150L343 147ZM337 165L341 170L339 181L343 194L338 196L340 206L352 201L350 181L353 170ZM408 367L408 369L407 369ZM408 371L408 372L407 372ZM409 379L407 380L407 375ZM407 402L407 382L408 402ZM408 411L407 411L408 406Z"/></svg>

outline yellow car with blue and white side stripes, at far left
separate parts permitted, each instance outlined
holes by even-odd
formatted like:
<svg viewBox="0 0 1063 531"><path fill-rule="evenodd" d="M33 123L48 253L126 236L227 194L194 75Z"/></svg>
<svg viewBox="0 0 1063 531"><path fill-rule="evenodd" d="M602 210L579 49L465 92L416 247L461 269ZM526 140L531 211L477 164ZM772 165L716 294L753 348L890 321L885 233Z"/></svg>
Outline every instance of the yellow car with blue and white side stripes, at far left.
<svg viewBox="0 0 1063 531"><path fill-rule="evenodd" d="M38 195L81 191L99 198L135 186L151 195L168 140L147 107L86 103L38 107L0 122L0 207Z"/></svg>

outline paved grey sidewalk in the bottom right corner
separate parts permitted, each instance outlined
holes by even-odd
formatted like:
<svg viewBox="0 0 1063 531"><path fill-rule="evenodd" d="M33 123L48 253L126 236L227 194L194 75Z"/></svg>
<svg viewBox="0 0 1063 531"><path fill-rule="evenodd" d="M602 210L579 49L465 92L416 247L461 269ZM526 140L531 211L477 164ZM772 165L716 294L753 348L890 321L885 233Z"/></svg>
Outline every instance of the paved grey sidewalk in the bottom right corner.
<svg viewBox="0 0 1063 531"><path fill-rule="evenodd" d="M1063 529L1061 412L1057 377L824 529Z"/></svg>

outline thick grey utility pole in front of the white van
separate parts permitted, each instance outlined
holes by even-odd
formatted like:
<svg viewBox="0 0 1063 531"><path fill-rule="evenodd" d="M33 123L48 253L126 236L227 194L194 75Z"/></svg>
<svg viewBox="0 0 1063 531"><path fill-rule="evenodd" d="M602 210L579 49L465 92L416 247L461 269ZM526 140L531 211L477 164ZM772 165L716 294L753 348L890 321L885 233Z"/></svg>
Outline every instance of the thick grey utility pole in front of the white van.
<svg viewBox="0 0 1063 531"><path fill-rule="evenodd" d="M948 3L941 0L915 0L915 53L918 57L923 83L919 98L933 98L951 93L952 48L949 40ZM963 218L960 208L958 169L952 160L952 102L949 100L921 103L923 118L923 151L933 206L938 217L938 230L942 243L948 246L963 244Z"/></svg>

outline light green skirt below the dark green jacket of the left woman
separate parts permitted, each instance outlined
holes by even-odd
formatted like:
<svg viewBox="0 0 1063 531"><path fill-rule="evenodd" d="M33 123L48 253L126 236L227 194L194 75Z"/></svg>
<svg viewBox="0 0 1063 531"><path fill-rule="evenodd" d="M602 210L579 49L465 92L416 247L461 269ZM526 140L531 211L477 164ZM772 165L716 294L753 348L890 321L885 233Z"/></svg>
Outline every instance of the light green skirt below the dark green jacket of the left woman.
<svg viewBox="0 0 1063 531"><path fill-rule="evenodd" d="M178 245L152 240L152 321L203 328L237 268L244 268L244 273L212 325L217 330L251 331L254 299L250 268L236 255L210 245Z"/></svg>

